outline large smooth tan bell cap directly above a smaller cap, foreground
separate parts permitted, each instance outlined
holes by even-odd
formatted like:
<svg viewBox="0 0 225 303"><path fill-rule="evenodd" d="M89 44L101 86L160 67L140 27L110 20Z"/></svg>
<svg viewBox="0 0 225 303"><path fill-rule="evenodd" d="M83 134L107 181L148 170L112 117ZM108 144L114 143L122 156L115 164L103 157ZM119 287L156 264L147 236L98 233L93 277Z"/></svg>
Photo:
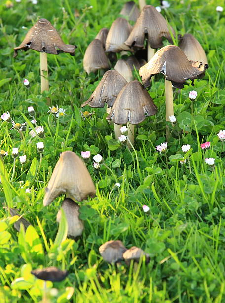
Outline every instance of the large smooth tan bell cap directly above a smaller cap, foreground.
<svg viewBox="0 0 225 303"><path fill-rule="evenodd" d="M95 186L83 161L71 151L62 152L45 189L44 206L56 197L67 193L82 201L95 196Z"/></svg>

